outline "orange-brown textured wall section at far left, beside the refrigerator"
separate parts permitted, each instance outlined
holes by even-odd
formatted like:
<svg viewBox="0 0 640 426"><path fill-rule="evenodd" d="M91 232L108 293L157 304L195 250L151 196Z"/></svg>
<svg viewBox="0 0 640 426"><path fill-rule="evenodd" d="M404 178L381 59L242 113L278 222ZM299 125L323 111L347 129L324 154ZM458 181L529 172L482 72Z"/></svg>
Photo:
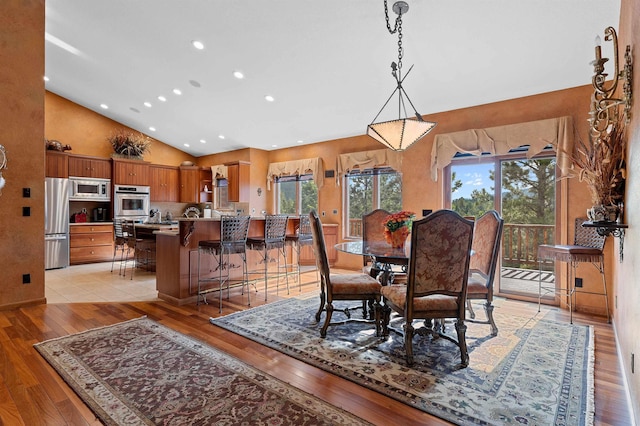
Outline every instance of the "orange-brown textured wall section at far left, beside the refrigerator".
<svg viewBox="0 0 640 426"><path fill-rule="evenodd" d="M0 307L44 301L44 0L0 2ZM22 189L31 197L23 198ZM31 216L23 217L23 207ZM23 284L29 274L30 284Z"/></svg>

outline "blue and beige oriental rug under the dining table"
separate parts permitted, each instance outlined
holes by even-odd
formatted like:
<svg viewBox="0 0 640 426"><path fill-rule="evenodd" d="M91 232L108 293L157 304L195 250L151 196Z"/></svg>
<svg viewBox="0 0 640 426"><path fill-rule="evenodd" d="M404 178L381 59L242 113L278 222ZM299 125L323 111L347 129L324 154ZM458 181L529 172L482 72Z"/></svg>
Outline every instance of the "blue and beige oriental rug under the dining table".
<svg viewBox="0 0 640 426"><path fill-rule="evenodd" d="M543 314L505 316L496 308L498 336L488 325L466 323L467 368L460 367L456 345L430 336L414 337L408 368L402 337L376 338L373 324L331 326L320 338L318 305L317 298L286 299L210 322L455 424L593 424L588 326L544 320ZM484 315L480 306L476 310ZM332 319L340 318L346 319L334 311ZM453 324L446 329L455 334Z"/></svg>

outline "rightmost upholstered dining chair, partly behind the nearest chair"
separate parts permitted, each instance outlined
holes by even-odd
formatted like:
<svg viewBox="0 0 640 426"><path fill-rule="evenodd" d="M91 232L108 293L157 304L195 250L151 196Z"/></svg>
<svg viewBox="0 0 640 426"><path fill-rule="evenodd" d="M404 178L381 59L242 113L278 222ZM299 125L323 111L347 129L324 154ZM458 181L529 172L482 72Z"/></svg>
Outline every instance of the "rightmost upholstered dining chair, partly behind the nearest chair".
<svg viewBox="0 0 640 426"><path fill-rule="evenodd" d="M469 282L467 286L467 310L469 320L480 324L491 325L491 335L498 334L498 327L493 319L493 281L500 255L500 243L502 240L502 227L504 220L497 211L489 210L475 221L473 231L473 243L471 250L473 255L469 262ZM472 300L484 300L486 321L475 319Z"/></svg>

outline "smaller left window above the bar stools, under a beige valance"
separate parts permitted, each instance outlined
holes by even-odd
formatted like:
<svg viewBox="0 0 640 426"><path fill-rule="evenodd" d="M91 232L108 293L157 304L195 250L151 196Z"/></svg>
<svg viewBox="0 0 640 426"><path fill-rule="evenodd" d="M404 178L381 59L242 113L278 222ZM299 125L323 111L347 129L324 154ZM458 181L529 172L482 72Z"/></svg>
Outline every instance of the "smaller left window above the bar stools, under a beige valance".
<svg viewBox="0 0 640 426"><path fill-rule="evenodd" d="M312 175L276 178L276 200L279 214L309 214L318 210L318 187Z"/></svg>

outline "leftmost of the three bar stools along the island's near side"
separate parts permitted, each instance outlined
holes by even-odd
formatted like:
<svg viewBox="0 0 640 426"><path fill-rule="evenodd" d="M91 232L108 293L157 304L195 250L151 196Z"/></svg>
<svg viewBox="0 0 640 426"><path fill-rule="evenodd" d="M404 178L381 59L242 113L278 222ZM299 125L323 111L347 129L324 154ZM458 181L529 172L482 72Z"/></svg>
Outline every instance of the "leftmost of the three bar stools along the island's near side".
<svg viewBox="0 0 640 426"><path fill-rule="evenodd" d="M202 302L207 304L207 293L219 291L220 312L222 313L222 286L227 284L227 299L229 299L229 285L231 283L231 255L239 254L242 259L242 294L244 294L244 286L248 286L248 270L247 270L247 234L249 233L250 216L222 216L220 218L220 239L204 240L198 242L198 295L196 305L200 304L200 296ZM218 271L217 277L203 278L201 275L202 256L213 256L211 272ZM223 275L223 271L226 274ZM204 288L203 284L218 282L219 288ZM247 288L247 301L251 306L251 292Z"/></svg>

